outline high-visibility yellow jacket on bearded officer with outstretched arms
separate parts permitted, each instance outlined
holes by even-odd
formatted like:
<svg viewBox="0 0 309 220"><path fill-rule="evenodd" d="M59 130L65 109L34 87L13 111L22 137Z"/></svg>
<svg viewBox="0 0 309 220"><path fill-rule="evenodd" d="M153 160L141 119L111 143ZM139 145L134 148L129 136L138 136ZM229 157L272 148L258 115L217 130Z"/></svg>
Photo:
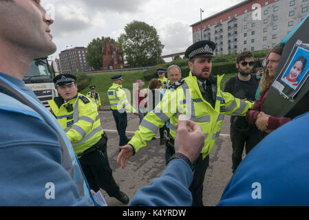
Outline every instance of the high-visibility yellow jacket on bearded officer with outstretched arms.
<svg viewBox="0 0 309 220"><path fill-rule="evenodd" d="M198 79L191 72L187 78L175 83L164 94L161 102L153 111L149 112L142 120L138 131L129 141L137 152L146 141L152 139L160 127L170 119L170 134L175 139L175 124L178 123L180 114L187 115L189 120L200 124L205 135L205 145L202 148L202 157L209 155L217 138L220 135L224 115L246 115L251 102L244 102L234 98L229 93L220 90L220 82L223 76L217 77L217 96L215 109L207 102L198 87Z"/></svg>

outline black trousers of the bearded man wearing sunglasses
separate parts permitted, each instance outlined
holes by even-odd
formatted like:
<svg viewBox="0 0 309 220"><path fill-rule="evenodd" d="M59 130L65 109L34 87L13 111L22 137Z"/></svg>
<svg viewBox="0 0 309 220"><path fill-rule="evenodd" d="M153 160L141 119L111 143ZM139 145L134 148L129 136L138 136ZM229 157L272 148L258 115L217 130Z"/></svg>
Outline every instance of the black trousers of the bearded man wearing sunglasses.
<svg viewBox="0 0 309 220"><path fill-rule="evenodd" d="M237 166L242 162L242 151L246 150L246 155L253 149L257 143L262 140L261 133L256 126L250 126L248 131L239 131L231 126L230 130L231 142L233 148L232 154L232 171L237 169Z"/></svg>

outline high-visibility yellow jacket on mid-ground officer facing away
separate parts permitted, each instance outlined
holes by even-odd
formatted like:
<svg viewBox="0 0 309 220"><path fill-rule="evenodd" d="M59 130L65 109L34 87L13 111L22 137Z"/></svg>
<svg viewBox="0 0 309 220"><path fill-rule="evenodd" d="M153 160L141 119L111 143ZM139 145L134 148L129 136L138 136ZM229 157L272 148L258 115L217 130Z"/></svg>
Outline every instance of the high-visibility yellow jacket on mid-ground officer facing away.
<svg viewBox="0 0 309 220"><path fill-rule="evenodd" d="M111 104L111 110L120 110L124 112L124 109L127 109L127 111L131 111L131 113L137 112L127 100L125 91L122 90L122 85L113 83L108 89L107 95L109 98L109 104Z"/></svg>

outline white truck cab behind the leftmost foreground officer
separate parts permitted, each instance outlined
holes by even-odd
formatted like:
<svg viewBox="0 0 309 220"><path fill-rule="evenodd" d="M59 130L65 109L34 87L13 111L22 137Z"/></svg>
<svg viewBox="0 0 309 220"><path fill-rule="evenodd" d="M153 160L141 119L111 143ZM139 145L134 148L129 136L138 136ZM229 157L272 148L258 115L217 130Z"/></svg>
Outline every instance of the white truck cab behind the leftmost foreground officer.
<svg viewBox="0 0 309 220"><path fill-rule="evenodd" d="M58 96L52 78L54 78L54 74L50 70L47 57L32 61L30 69L23 78L25 85L34 91L36 97L47 108L50 107L47 101Z"/></svg>

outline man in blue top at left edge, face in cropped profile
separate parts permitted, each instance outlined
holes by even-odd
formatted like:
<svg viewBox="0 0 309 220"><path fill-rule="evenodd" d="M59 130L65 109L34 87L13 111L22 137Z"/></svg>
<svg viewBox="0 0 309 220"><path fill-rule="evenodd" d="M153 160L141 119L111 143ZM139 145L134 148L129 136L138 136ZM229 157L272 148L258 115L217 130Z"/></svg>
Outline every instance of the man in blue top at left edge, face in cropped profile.
<svg viewBox="0 0 309 220"><path fill-rule="evenodd" d="M56 51L52 23L40 1L0 1L0 206L94 204L64 131L23 83Z"/></svg>

